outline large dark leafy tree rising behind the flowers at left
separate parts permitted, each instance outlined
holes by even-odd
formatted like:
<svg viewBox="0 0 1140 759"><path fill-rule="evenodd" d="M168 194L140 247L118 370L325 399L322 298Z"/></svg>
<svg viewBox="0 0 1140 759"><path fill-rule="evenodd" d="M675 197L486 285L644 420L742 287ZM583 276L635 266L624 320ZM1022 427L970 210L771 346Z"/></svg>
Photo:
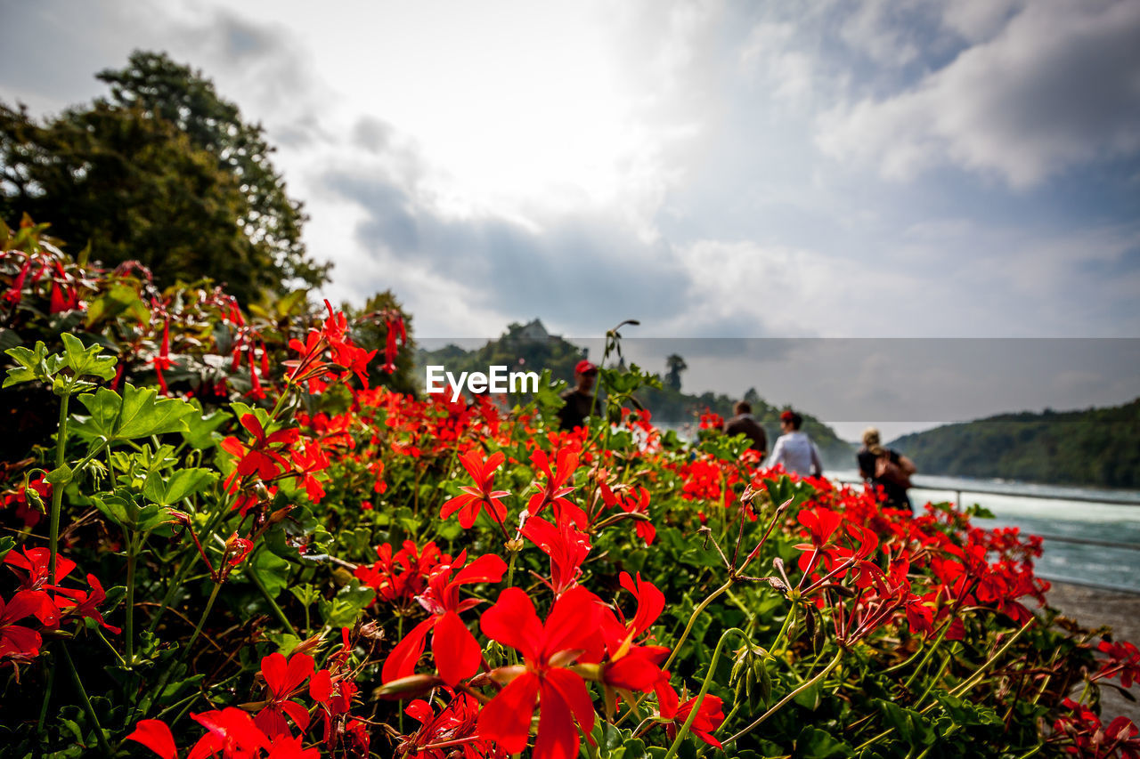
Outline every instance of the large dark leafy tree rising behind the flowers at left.
<svg viewBox="0 0 1140 759"><path fill-rule="evenodd" d="M161 284L212 277L243 302L327 280L260 124L162 54L98 77L109 99L42 124L0 105L0 214L50 221L106 263L142 261Z"/></svg>

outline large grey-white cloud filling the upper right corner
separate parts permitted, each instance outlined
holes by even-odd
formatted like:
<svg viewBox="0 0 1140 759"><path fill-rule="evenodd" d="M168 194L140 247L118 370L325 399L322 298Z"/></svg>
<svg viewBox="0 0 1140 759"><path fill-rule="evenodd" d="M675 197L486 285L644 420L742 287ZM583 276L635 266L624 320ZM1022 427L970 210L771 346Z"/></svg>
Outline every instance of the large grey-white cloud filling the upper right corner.
<svg viewBox="0 0 1140 759"><path fill-rule="evenodd" d="M974 30L985 23L959 19ZM913 88L840 105L816 142L912 179L940 164L1015 188L1140 152L1140 3L1037 0Z"/></svg>

